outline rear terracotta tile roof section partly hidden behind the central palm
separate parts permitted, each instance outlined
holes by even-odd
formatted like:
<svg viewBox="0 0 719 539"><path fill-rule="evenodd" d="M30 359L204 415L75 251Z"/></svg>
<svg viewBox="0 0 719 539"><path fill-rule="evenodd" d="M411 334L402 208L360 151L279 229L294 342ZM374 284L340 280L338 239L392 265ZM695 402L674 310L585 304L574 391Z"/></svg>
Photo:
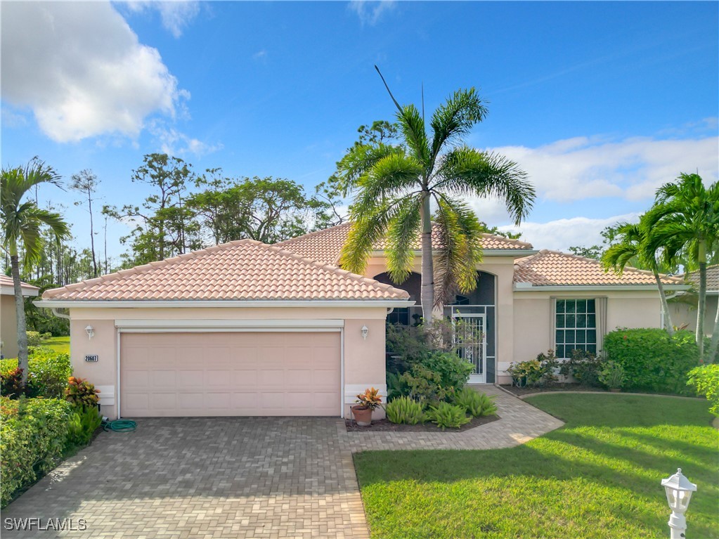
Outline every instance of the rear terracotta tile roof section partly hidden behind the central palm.
<svg viewBox="0 0 719 539"><path fill-rule="evenodd" d="M295 252L302 257L311 258L322 262L323 264L336 265L339 262L339 253L342 251L344 242L347 241L349 227L352 223L344 223L338 226L332 226L329 229L311 232L304 236L298 236L293 239L281 241L278 246L283 249ZM436 236L436 230L432 235L433 244L439 241ZM492 250L526 250L531 251L531 244L518 239L508 239L502 236L493 236L492 234L482 234L482 247ZM384 243L375 245L376 251L383 251ZM420 238L414 243L415 249L420 249Z"/></svg>

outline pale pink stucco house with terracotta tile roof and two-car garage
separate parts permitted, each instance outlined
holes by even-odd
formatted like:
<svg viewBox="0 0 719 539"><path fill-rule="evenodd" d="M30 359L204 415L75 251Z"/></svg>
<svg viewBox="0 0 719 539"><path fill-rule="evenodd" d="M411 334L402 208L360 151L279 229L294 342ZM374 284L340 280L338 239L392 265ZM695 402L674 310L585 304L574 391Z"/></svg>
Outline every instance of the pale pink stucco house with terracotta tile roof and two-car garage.
<svg viewBox="0 0 719 539"><path fill-rule="evenodd" d="M365 275L338 267L349 224L269 246L252 240L183 254L42 295L69 309L76 376L104 415L334 415L385 385L385 322L421 313L420 257L392 282L382 245ZM464 350L471 382L506 382L510 361L601 349L615 326L661 325L648 272L485 235L479 285L441 313L485 338ZM418 244L417 244L418 249ZM663 277L669 290L686 288Z"/></svg>

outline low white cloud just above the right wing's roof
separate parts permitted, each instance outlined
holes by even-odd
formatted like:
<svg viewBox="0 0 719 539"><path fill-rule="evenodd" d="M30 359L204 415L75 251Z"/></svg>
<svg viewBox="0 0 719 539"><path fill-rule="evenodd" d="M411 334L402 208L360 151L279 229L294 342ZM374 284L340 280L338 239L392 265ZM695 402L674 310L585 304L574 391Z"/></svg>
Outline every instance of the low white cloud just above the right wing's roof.
<svg viewBox="0 0 719 539"><path fill-rule="evenodd" d="M601 231L607 226L620 221L636 222L639 213L626 213L624 215L607 218L590 219L587 217L572 217L557 219L548 223L533 223L528 221L521 226L500 226L502 231L521 232L522 240L531 243L535 249L553 249L566 252L572 246L592 247L603 242Z"/></svg>

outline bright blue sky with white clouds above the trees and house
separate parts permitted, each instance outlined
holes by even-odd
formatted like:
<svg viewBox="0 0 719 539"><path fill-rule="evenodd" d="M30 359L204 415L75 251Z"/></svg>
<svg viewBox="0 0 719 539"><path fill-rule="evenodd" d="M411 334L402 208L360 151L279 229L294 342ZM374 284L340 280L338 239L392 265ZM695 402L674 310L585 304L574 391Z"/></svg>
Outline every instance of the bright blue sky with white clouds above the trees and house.
<svg viewBox="0 0 719 539"><path fill-rule="evenodd" d="M535 247L592 244L679 172L719 179L716 2L37 2L1 4L3 166L39 155L92 169L106 203L150 152L198 172L309 190L357 127L393 104L433 110L476 86L489 116L467 142L528 171ZM76 195L63 203L86 244ZM510 227L497 201L470 201ZM109 226L109 251L123 247Z"/></svg>

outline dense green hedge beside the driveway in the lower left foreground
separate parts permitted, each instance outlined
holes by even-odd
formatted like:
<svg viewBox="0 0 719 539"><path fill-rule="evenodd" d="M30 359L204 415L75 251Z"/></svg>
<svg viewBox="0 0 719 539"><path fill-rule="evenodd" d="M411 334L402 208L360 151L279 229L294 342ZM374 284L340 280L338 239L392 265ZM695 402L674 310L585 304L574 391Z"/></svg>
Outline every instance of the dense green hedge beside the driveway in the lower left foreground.
<svg viewBox="0 0 719 539"><path fill-rule="evenodd" d="M58 399L1 398L0 505L55 466L63 454L71 405Z"/></svg>

